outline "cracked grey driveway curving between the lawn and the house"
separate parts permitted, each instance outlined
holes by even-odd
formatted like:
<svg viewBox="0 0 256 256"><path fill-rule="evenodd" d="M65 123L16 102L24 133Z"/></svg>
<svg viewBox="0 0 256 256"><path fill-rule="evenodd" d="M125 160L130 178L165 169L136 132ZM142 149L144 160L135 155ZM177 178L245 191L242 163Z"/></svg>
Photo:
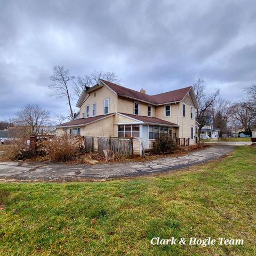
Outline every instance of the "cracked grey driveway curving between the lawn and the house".
<svg viewBox="0 0 256 256"><path fill-rule="evenodd" d="M145 162L69 165L61 163L0 162L0 180L10 181L75 181L133 177L184 169L229 154L233 146L214 145L178 157L158 158Z"/></svg>

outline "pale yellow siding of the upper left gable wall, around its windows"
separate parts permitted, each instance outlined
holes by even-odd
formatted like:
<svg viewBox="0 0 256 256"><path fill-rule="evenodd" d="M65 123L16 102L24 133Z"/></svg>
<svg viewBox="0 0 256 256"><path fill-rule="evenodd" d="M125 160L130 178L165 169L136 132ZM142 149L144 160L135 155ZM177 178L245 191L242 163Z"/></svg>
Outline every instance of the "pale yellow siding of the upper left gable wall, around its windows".
<svg viewBox="0 0 256 256"><path fill-rule="evenodd" d="M85 102L80 107L79 118L83 118L83 113L86 112L86 105L90 106L89 117L92 116L92 103L96 103L96 116L103 115L103 101L105 99L109 99L109 114L117 112L117 95L111 90L109 90L106 86L103 86L98 90L90 92L89 94L86 94L85 99Z"/></svg>

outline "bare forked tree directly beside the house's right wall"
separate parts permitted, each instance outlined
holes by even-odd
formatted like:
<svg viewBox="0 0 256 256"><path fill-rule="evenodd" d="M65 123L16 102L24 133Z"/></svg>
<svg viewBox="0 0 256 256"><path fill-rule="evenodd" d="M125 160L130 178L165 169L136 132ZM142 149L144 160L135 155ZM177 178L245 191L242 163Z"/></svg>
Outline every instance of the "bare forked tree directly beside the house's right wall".
<svg viewBox="0 0 256 256"><path fill-rule="evenodd" d="M215 92L213 93L205 93L205 82L200 78L193 84L193 89L199 104L196 119L199 123L198 139L200 140L202 127L206 124L207 117L211 114L211 107L219 95L220 90L215 89Z"/></svg>

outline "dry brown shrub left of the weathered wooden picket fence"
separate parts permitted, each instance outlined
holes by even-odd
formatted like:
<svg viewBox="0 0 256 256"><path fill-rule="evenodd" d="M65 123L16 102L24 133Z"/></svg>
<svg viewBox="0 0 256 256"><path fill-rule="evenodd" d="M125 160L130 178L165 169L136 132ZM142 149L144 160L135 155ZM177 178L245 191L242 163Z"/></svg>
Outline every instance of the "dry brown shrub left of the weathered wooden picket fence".
<svg viewBox="0 0 256 256"><path fill-rule="evenodd" d="M82 142L82 137L63 135L62 137L53 137L43 141L42 146L45 147L49 161L67 162L76 157L79 149L81 149Z"/></svg>

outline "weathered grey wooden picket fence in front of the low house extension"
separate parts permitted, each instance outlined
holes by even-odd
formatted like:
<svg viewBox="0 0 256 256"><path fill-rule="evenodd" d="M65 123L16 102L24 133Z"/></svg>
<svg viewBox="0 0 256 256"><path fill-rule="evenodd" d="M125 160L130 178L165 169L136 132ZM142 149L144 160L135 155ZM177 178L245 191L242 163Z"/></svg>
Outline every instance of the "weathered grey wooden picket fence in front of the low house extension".
<svg viewBox="0 0 256 256"><path fill-rule="evenodd" d="M98 153L104 155L103 150L113 150L116 155L133 155L133 139L119 139L111 137L84 137L84 147L86 152L94 152L94 139L98 140Z"/></svg>

